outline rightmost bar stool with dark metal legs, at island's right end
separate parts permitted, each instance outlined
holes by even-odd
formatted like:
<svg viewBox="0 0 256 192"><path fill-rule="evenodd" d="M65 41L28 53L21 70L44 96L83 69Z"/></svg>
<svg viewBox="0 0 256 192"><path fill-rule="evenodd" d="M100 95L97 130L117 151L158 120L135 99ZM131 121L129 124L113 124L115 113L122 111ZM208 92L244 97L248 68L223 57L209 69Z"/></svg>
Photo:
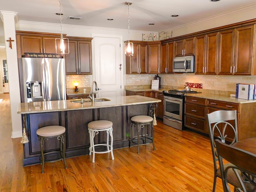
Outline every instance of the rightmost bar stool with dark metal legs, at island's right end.
<svg viewBox="0 0 256 192"><path fill-rule="evenodd" d="M138 136L137 136L137 142L134 142L135 139L133 138L132 128L131 128L131 137L130 137L130 141L129 141L129 146L131 147L131 142L138 144L138 153L140 153L140 139L143 139L142 145L149 144L146 141L147 139L149 139L149 140L152 140L153 148L154 148L154 150L156 150L155 144L154 144L153 118L150 116L146 116L146 115L137 115L137 116L133 116L131 118L131 121L132 121L132 128L133 128L133 126L136 126ZM141 136L140 136L140 130L142 128L144 128L145 125L147 126L147 128L145 128L144 136L143 136L143 134L141 134ZM148 125L151 125L152 138L146 136Z"/></svg>

